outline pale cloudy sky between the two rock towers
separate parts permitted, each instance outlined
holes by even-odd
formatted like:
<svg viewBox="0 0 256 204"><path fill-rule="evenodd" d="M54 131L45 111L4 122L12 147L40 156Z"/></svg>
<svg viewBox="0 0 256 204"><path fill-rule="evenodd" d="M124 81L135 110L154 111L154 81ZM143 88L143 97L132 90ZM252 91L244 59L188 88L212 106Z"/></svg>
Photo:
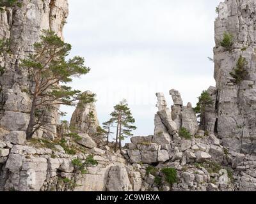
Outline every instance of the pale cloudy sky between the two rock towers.
<svg viewBox="0 0 256 204"><path fill-rule="evenodd" d="M71 0L65 41L81 55L88 75L72 87L97 94L100 123L127 99L138 129L154 133L156 92L182 94L184 104L215 85L212 57L215 8L220 0ZM63 107L70 119L74 108Z"/></svg>

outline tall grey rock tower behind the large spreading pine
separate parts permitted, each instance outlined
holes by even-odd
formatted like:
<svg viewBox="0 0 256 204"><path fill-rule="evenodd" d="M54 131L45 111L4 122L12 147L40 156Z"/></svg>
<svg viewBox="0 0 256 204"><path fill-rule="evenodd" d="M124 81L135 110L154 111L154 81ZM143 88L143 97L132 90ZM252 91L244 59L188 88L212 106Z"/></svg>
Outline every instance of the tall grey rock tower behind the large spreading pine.
<svg viewBox="0 0 256 204"><path fill-rule="evenodd" d="M0 77L1 111L0 126L10 131L24 131L28 126L31 97L29 90L33 84L29 80L28 71L20 68L20 59L33 52L43 29L51 29L62 37L63 22L68 15L67 0L41 1L24 0L22 6L6 8L0 13L0 39L10 40L12 54L0 55L1 66L5 68ZM58 113L49 113L54 124L58 122ZM52 126L51 133L56 133ZM54 134L53 134L54 135Z"/></svg>

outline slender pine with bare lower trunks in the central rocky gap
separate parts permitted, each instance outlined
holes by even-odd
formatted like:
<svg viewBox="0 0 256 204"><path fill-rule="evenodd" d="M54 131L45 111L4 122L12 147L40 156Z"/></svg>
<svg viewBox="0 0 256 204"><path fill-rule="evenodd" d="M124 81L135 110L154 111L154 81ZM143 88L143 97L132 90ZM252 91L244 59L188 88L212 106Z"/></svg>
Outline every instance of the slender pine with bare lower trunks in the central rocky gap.
<svg viewBox="0 0 256 204"><path fill-rule="evenodd" d="M135 119L132 117L131 110L125 99L114 107L114 111L111 113L111 116L111 120L117 124L115 151L117 150L118 145L121 150L122 140L128 136L132 136L132 130L137 129L136 126L132 126Z"/></svg>

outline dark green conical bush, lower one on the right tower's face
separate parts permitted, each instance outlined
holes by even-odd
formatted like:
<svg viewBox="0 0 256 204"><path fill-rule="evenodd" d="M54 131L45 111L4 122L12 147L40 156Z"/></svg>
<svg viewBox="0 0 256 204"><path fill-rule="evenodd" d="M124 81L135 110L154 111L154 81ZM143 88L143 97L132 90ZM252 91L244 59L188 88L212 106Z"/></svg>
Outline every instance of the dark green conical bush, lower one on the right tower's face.
<svg viewBox="0 0 256 204"><path fill-rule="evenodd" d="M239 84L248 75L248 71L246 71L247 64L246 59L240 55L236 68L234 68L234 71L230 72L230 75L236 80L236 84Z"/></svg>

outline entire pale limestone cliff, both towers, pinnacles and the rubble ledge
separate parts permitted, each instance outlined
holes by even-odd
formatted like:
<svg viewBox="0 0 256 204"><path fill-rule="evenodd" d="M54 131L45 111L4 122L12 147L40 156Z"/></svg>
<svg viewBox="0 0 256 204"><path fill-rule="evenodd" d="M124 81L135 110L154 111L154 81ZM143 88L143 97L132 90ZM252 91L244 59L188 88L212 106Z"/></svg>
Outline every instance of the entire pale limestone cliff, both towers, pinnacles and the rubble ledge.
<svg viewBox="0 0 256 204"><path fill-rule="evenodd" d="M24 0L4 8L0 38L10 40L10 52L0 55L0 191L256 191L255 10L256 0L227 0L218 8L216 87L208 89L213 103L201 126L179 91L170 90L172 107L157 93L154 134L114 152L95 136L94 103L77 106L70 121L76 131L66 122L26 141L33 84L19 61L43 29L62 36L68 4ZM221 43L225 33L232 36L228 47ZM230 73L241 57L248 74L237 83ZM96 122L89 128L90 112ZM51 118L57 122L58 113Z"/></svg>

